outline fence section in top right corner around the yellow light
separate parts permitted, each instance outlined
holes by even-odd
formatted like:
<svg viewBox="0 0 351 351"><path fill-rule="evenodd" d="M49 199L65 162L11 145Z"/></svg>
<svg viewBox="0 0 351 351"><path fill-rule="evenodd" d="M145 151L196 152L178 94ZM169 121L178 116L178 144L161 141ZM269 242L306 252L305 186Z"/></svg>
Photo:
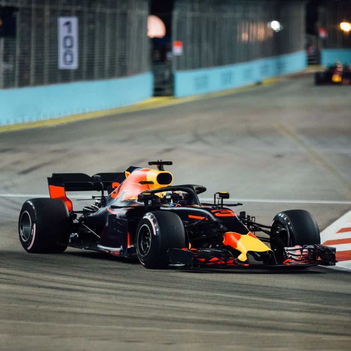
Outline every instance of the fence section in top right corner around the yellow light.
<svg viewBox="0 0 351 351"><path fill-rule="evenodd" d="M318 11L319 28L326 29L321 38L323 49L351 48L351 32L343 32L340 22L351 22L351 0L324 1Z"/></svg>

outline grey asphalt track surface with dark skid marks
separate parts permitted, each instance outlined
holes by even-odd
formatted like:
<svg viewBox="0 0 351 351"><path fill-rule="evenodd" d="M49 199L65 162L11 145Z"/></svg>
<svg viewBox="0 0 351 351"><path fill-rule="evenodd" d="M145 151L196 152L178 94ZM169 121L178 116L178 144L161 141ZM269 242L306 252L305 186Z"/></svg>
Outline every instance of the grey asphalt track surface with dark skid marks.
<svg viewBox="0 0 351 351"><path fill-rule="evenodd" d="M240 208L261 223L303 208L323 230L351 208L350 149L350 87L316 87L311 76L1 133L0 350L350 350L350 272L153 271L75 249L28 254L17 233L26 198L1 196L47 194L53 172L162 158L174 184L205 185L204 197L276 200Z"/></svg>

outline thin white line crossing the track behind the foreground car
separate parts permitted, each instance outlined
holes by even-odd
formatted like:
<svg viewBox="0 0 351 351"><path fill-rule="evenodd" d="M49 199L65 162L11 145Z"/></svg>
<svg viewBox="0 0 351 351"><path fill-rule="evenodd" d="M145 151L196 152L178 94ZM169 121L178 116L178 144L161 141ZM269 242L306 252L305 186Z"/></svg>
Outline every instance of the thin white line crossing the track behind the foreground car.
<svg viewBox="0 0 351 351"><path fill-rule="evenodd" d="M49 197L49 194L0 194L0 197L22 197L22 198L35 198L35 197ZM68 195L72 199L84 199L89 197L89 194ZM213 203L213 198L201 198L200 201L209 201ZM351 201L332 201L332 200L278 200L278 199L226 199L226 202L263 202L263 203L276 203L276 204L335 204L335 205L351 205ZM224 203L225 205L225 203Z"/></svg>

